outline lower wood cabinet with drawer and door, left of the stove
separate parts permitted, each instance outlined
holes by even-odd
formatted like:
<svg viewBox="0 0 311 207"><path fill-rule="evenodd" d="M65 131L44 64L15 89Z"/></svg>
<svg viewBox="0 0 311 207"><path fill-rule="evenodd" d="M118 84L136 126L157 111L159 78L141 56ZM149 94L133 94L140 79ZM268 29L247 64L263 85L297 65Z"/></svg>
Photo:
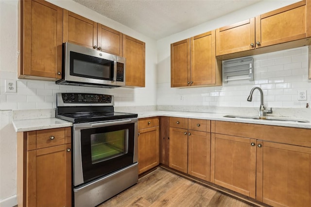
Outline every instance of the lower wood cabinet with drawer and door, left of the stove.
<svg viewBox="0 0 311 207"><path fill-rule="evenodd" d="M71 207L71 127L17 133L19 207Z"/></svg>

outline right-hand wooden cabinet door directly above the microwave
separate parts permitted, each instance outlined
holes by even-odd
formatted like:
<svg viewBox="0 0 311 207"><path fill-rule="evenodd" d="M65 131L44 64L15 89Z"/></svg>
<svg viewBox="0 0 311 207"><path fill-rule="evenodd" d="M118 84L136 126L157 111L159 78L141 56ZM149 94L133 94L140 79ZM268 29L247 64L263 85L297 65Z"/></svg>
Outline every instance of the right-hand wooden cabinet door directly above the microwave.
<svg viewBox="0 0 311 207"><path fill-rule="evenodd" d="M123 34L114 29L98 24L98 50L122 56Z"/></svg>

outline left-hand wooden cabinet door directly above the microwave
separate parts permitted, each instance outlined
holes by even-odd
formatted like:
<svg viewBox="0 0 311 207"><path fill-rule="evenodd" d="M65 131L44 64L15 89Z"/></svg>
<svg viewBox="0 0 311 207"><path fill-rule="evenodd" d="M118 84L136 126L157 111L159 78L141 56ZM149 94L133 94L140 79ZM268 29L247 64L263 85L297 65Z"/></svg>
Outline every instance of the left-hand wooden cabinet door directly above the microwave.
<svg viewBox="0 0 311 207"><path fill-rule="evenodd" d="M97 48L97 23L64 9L63 42Z"/></svg>

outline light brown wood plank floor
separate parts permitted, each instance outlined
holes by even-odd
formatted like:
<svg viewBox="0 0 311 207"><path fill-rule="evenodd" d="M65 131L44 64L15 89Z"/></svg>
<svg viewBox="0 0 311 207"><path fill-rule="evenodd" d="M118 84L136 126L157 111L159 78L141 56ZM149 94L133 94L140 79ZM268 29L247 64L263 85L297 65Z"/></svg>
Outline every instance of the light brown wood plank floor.
<svg viewBox="0 0 311 207"><path fill-rule="evenodd" d="M97 207L251 207L161 167Z"/></svg>

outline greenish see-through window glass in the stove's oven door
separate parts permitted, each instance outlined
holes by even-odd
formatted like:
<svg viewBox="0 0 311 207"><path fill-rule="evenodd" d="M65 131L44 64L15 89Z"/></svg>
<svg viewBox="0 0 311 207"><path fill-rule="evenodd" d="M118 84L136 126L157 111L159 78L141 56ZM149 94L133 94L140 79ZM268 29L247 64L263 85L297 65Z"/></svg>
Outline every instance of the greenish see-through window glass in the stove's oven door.
<svg viewBox="0 0 311 207"><path fill-rule="evenodd" d="M128 129L91 135L92 164L103 162L128 152Z"/></svg>

